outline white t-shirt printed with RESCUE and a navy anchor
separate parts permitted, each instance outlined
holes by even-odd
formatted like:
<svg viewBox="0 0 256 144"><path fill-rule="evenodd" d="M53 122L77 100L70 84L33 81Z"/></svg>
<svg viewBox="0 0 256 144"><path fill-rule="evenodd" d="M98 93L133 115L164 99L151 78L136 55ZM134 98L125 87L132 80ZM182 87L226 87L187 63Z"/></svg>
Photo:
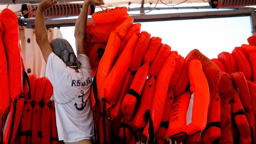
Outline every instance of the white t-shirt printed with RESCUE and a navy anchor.
<svg viewBox="0 0 256 144"><path fill-rule="evenodd" d="M70 100L81 89L77 96L66 104L55 102L56 123L59 140L64 142L77 142L84 139L94 139L93 113L90 104L90 89L92 85L92 71L89 58L86 55L77 56L81 62L81 71L78 73L65 65L53 52L49 55L46 64L45 76L54 88L54 97L57 102L63 103Z"/></svg>

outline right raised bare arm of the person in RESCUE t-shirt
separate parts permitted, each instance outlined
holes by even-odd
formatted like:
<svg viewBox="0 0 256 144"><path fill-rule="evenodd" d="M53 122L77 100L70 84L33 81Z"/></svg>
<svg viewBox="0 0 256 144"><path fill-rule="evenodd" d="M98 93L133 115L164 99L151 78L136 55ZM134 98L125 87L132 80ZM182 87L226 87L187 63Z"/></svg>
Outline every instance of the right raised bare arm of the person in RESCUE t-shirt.
<svg viewBox="0 0 256 144"><path fill-rule="evenodd" d="M86 54L86 50L84 49L84 39L86 38L86 25L87 25L88 9L90 4L99 6L100 4L104 4L104 2L103 0L85 0L84 1L82 10L76 20L75 32L74 32L74 36L76 38L77 55Z"/></svg>

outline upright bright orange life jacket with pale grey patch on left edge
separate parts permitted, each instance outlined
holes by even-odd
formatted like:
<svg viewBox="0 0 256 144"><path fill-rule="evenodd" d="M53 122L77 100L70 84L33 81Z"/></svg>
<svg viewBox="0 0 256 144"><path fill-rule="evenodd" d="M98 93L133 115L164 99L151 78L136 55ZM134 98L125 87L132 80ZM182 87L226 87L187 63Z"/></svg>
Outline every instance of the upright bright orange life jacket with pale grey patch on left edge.
<svg viewBox="0 0 256 144"><path fill-rule="evenodd" d="M186 115L186 133L193 135L205 129L210 101L208 82L198 60L189 63L189 82L192 94Z"/></svg>

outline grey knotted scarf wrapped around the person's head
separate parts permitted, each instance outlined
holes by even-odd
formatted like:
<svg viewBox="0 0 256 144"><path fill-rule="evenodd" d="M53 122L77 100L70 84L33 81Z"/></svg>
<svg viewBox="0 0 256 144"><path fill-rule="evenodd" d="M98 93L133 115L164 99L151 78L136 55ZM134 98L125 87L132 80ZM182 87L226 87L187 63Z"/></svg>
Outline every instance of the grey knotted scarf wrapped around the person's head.
<svg viewBox="0 0 256 144"><path fill-rule="evenodd" d="M60 57L66 66L71 66L71 64L73 64L73 66L80 68L81 63L77 60L72 46L67 40L56 38L53 39L50 44L54 54Z"/></svg>

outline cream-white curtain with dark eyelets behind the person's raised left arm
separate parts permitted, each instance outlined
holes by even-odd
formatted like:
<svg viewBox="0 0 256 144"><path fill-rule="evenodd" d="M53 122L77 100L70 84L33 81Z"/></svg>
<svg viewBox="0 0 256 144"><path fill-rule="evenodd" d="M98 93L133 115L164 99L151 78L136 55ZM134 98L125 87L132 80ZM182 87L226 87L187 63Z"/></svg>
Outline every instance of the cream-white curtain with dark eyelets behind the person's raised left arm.
<svg viewBox="0 0 256 144"><path fill-rule="evenodd" d="M47 33L49 41L55 38L62 38L62 34L58 28L49 28ZM26 72L28 75L36 74L37 77L44 77L46 63L36 43L35 29L20 27L19 38Z"/></svg>

